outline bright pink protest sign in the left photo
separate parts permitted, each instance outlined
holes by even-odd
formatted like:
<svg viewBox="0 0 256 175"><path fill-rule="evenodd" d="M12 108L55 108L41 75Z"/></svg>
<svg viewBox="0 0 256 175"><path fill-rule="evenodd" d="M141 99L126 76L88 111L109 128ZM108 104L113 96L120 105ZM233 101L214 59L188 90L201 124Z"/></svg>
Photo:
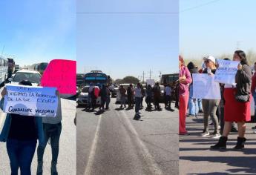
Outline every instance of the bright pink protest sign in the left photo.
<svg viewBox="0 0 256 175"><path fill-rule="evenodd" d="M76 61L53 59L42 76L42 87L57 87L61 94L76 94Z"/></svg>

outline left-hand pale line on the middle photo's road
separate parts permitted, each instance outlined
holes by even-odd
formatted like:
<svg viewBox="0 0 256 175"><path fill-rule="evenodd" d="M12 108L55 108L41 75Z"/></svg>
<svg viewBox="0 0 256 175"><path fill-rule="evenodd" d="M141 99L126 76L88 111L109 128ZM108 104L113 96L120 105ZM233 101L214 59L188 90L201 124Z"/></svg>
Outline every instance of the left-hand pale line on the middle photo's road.
<svg viewBox="0 0 256 175"><path fill-rule="evenodd" d="M87 162L87 165L85 167L85 175L90 175L91 174L91 168L93 166L93 162L94 162L94 157L95 157L95 153L96 153L96 147L97 147L97 142L99 139L99 128L100 128L100 123L102 120L102 115L99 115L99 120L96 126L96 132L94 135L94 139L93 139L93 144L91 145L91 151L90 151L90 155L89 155L89 159Z"/></svg>

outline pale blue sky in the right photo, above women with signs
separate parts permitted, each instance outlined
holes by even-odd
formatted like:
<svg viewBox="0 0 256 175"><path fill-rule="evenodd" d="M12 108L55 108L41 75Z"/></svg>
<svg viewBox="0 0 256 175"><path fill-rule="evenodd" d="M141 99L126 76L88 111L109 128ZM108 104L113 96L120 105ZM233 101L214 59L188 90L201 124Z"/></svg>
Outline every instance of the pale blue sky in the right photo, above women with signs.
<svg viewBox="0 0 256 175"><path fill-rule="evenodd" d="M255 7L255 0L180 0L180 53L201 59L237 48L256 52Z"/></svg>

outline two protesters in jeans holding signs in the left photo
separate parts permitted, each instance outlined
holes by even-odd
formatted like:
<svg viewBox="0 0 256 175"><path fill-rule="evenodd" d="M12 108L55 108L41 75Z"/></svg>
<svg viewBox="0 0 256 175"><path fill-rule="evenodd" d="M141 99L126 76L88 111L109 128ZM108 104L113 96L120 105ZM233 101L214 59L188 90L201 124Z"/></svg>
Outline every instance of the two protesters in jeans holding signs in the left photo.
<svg viewBox="0 0 256 175"><path fill-rule="evenodd" d="M32 86L27 80L22 80L19 85ZM1 91L0 107L3 109L4 98L7 90ZM43 156L48 140L52 151L51 175L57 175L57 162L59 155L59 138L62 131L62 108L59 92L58 109L56 117L22 116L14 113L7 113L4 126L0 134L0 142L6 142L7 153L10 159L12 175L30 175L31 162L36 151L37 140L37 175L43 173Z"/></svg>

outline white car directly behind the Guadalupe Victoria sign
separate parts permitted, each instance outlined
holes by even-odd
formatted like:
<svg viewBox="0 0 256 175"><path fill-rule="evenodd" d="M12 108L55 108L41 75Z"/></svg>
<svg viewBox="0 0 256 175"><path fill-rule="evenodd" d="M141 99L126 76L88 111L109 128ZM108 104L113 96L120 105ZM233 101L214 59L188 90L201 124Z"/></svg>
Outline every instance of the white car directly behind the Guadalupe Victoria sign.
<svg viewBox="0 0 256 175"><path fill-rule="evenodd" d="M28 80L33 86L38 86L41 81L41 74L36 70L18 70L13 77L9 78L10 84L19 85L22 80Z"/></svg>

